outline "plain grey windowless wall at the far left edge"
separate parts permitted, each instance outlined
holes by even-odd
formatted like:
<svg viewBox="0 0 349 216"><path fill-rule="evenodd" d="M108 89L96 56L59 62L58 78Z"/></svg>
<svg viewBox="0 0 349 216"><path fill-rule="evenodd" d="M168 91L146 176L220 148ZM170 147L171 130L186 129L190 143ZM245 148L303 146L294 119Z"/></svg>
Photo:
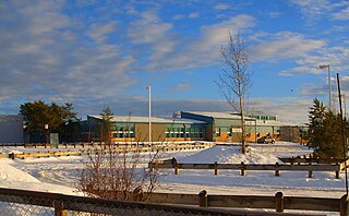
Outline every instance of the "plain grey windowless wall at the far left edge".
<svg viewBox="0 0 349 216"><path fill-rule="evenodd" d="M21 115L0 115L0 143L23 143Z"/></svg>

